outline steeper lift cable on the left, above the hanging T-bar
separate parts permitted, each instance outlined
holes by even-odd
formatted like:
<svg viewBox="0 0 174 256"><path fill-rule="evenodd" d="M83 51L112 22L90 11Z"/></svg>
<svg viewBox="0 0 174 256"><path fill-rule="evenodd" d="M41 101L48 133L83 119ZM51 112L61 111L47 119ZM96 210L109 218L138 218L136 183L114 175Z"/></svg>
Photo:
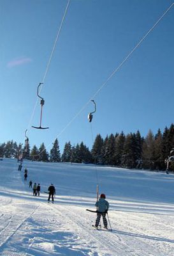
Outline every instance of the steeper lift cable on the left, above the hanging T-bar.
<svg viewBox="0 0 174 256"><path fill-rule="evenodd" d="M55 47L56 47L56 45L57 45L57 41L58 41L58 39L59 39L59 35L60 35L60 33L61 33L62 25L63 25L63 23L64 23L64 19L65 19L65 17L66 17L66 13L67 13L67 11L68 11L68 7L69 7L70 1L71 1L71 0L68 0L68 3L67 3L67 5L66 5L66 9L65 9L65 11L64 11L64 15L63 15L63 17L62 17L61 25L60 25L59 30L58 30L58 32L57 32L57 36L56 36L56 38L55 38L55 42L54 42L54 45L53 45L53 48L52 48L52 52L51 52L51 54L50 54L50 58L49 58L49 60L48 60L47 67L46 67L46 70L45 70L45 73L44 73L44 76L43 76L43 79L42 79L42 82L41 82L39 94L40 94L40 92L41 92L41 90L42 90L43 83L45 82L45 79L46 79L46 77L47 77L48 70L49 70L49 68L50 68L50 64L51 64L51 61L52 61L52 57L53 57L53 54L54 54L54 51L55 51ZM38 104L38 98L36 99L36 103L34 104L33 113L31 114L31 118L30 118L30 120L29 120L29 125L28 125L28 128L27 128L27 131L29 131L29 130L31 129L31 122L32 122L32 120L33 120L33 116L34 116L34 113L35 113L35 111L36 111L36 106L37 106L37 104Z"/></svg>

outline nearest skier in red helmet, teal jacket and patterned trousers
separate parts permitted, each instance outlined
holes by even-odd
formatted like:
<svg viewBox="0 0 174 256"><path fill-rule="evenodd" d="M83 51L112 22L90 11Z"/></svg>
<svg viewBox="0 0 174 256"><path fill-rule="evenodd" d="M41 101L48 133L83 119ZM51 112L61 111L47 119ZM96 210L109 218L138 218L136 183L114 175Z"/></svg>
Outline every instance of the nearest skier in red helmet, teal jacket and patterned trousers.
<svg viewBox="0 0 174 256"><path fill-rule="evenodd" d="M106 220L106 213L108 212L108 209L109 209L109 203L108 201L105 200L105 198L106 198L105 194L101 194L99 200L96 202L96 207L98 209L98 213L97 213L98 216L96 218L96 225L95 225L96 228L98 228L101 216L103 217L104 227L107 228L108 226L108 223Z"/></svg>

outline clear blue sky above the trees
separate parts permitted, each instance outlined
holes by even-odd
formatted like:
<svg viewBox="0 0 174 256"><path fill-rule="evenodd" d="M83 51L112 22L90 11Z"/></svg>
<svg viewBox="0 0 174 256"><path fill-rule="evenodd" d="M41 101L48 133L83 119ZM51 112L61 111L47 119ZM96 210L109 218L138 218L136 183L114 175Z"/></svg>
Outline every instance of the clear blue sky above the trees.
<svg viewBox="0 0 174 256"><path fill-rule="evenodd" d="M24 141L57 31L68 1L0 0L0 143ZM88 104L71 125L62 129L91 99L108 76L173 0L71 0L41 96L43 126L29 128L29 143L50 145L57 135L83 141L92 134L124 131L146 136L174 122L174 6L94 98L92 123ZM31 125L40 123L40 100ZM92 127L92 132L91 132ZM51 145L52 147L52 145ZM47 148L48 151L50 147Z"/></svg>

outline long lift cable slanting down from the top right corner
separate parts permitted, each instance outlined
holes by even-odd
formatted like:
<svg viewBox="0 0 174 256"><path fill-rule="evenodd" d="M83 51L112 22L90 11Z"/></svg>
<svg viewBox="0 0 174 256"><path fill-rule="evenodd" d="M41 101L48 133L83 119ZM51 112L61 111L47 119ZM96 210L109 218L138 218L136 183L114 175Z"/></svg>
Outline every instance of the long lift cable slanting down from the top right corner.
<svg viewBox="0 0 174 256"><path fill-rule="evenodd" d="M149 36L149 34L154 30L154 28L156 28L157 24L159 24L159 22L163 19L163 17L166 15L166 13L168 13L170 11L170 9L173 7L173 5L174 5L174 2L163 13L163 15L161 15L161 17L159 17L159 19L156 21L156 23L149 29L149 31L147 33L145 33L145 35L141 38L141 40L138 42L138 44L136 44L135 47L129 52L129 54L127 54L126 58L124 58L124 60L122 60L122 62L119 64L119 66L117 68L115 68L115 70L113 70L113 72L110 74L110 76L108 76L106 81L103 84L101 84L101 86L98 88L96 93L94 93L92 95L92 97L86 102L86 104L82 107L82 109L80 109L80 111L78 111L78 113L76 113L76 115L69 121L69 123L62 129L62 131L59 132L59 134L57 134L57 136L55 136L55 138L59 138L59 136L61 136L61 134L69 127L69 125L71 125L72 122L82 113L82 111L85 108L87 108L87 106L89 105L91 100L94 99L96 97L96 95L98 95L98 93L103 89L103 87L106 86L108 81L110 81L110 79L119 71L119 69L124 65L124 63L126 63L126 61L131 57L133 52L142 44L142 42L145 40L145 38L147 38L147 36ZM50 145L52 145L52 143L48 144L46 149L49 148ZM41 154L41 152L40 152L40 154Z"/></svg>

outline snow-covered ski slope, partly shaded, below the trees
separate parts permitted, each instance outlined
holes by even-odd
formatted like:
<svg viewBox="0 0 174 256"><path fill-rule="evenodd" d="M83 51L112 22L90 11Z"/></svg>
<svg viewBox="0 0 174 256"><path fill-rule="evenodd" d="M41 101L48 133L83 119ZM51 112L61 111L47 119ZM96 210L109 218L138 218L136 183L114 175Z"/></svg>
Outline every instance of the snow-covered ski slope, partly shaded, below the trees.
<svg viewBox="0 0 174 256"><path fill-rule="evenodd" d="M0 255L174 255L174 175L31 161L20 172L16 159L3 159L0 180ZM41 184L40 197L29 180ZM96 213L85 211L95 210L97 180L112 232L93 228ZM55 204L44 193L51 182Z"/></svg>

